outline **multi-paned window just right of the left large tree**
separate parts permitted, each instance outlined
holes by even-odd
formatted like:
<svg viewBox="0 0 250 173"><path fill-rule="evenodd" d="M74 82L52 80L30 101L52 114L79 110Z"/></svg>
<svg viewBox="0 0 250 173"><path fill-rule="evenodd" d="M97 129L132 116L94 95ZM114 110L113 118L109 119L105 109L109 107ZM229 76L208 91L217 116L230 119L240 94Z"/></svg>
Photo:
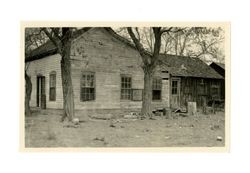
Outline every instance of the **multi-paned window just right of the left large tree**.
<svg viewBox="0 0 250 173"><path fill-rule="evenodd" d="M85 75L85 82L87 81L87 76L89 75L89 76L91 76L91 75L93 75L93 81L90 81L90 83L92 83L93 84L93 86L83 86L83 75ZM87 83L87 82L86 82ZM85 83L85 85L86 85L86 83ZM91 93L91 92L88 92L88 93L84 93L85 95L89 95L88 97L88 99L86 99L85 97L83 97L83 93L82 93L82 89L89 89L89 91L90 91L90 89L92 89L93 90L93 93ZM92 96L90 96L90 94L93 94ZM95 72L92 72L92 71L82 71L81 72L81 76L80 76L80 101L81 102L89 102L89 101L95 101L96 100L96 74L95 74Z"/></svg>

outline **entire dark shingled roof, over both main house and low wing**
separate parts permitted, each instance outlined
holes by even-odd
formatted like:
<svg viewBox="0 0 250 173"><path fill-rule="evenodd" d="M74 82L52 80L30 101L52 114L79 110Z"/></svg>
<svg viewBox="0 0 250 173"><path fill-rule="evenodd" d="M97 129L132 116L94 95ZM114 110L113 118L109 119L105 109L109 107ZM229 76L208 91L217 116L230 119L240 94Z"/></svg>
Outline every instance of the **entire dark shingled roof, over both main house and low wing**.
<svg viewBox="0 0 250 173"><path fill-rule="evenodd" d="M118 35L112 28L104 27L104 29L114 38L136 49L129 40ZM25 61L41 59L56 53L57 48L49 40L42 46L31 51L29 56L25 58ZM221 75L198 58L161 54L160 63L163 65L162 68L166 68L173 76L222 79Z"/></svg>

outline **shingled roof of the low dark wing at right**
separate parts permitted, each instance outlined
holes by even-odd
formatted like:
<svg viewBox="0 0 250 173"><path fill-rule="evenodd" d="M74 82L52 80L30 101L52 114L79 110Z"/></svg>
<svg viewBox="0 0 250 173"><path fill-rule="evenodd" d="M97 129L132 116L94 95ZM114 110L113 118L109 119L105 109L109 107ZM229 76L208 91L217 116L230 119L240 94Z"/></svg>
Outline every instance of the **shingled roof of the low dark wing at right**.
<svg viewBox="0 0 250 173"><path fill-rule="evenodd" d="M161 54L160 63L172 76L223 79L220 74L199 58Z"/></svg>

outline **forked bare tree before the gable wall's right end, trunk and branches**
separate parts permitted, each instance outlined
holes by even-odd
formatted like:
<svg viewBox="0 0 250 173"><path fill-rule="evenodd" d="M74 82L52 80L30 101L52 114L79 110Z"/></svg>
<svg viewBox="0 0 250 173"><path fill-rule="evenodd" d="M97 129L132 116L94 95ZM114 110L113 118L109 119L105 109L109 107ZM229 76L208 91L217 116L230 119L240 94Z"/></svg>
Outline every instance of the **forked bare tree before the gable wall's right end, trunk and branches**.
<svg viewBox="0 0 250 173"><path fill-rule="evenodd" d="M148 44L151 52L148 52L142 44L141 35L138 28L132 29L131 27L127 28L127 32L130 38L133 40L133 43L141 55L144 71L144 90L143 90L143 101L142 101L142 115L151 115L152 113L152 82L153 74L155 72L156 66L158 65L159 54L162 44L162 35L169 32L179 32L177 28L162 28L162 27L152 27L149 28L152 33L149 33ZM151 44L153 43L153 44Z"/></svg>

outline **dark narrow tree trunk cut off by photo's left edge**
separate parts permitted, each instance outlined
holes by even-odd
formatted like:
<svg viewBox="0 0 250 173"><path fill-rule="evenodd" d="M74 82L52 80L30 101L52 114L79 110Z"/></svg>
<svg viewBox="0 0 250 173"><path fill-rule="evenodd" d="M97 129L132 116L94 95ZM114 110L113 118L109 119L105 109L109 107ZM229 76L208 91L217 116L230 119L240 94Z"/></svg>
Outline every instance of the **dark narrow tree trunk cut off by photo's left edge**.
<svg viewBox="0 0 250 173"><path fill-rule="evenodd" d="M30 76L25 71L25 116L30 116L30 97L32 92L32 83Z"/></svg>

